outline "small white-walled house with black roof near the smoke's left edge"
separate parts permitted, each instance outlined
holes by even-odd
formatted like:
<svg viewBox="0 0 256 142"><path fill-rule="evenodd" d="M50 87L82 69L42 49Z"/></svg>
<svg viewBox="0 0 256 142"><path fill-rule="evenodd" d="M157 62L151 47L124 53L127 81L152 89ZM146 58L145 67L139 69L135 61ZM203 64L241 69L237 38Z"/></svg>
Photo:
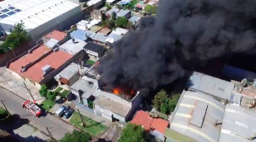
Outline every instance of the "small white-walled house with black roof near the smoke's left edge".
<svg viewBox="0 0 256 142"><path fill-rule="evenodd" d="M104 46L99 45L97 43L93 43L93 42L88 42L84 46L84 49L88 54L88 56L90 57L90 59L92 60L99 60L99 58L101 58L105 53Z"/></svg>

